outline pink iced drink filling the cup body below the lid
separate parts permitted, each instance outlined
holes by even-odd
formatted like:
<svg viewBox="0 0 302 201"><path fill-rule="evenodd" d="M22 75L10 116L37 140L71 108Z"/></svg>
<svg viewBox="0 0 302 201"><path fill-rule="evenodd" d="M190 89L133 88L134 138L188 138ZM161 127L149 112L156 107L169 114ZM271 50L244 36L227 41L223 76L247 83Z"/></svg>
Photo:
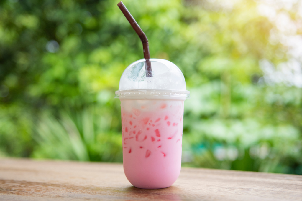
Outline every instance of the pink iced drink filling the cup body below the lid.
<svg viewBox="0 0 302 201"><path fill-rule="evenodd" d="M184 100L121 99L123 163L138 188L171 186L180 173Z"/></svg>

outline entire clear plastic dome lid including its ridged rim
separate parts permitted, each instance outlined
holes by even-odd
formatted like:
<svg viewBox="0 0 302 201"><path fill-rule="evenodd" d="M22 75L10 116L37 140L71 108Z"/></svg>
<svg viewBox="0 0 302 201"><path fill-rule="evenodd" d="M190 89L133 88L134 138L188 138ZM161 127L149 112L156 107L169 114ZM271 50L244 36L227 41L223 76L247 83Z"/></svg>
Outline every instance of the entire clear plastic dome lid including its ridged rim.
<svg viewBox="0 0 302 201"><path fill-rule="evenodd" d="M120 77L116 98L133 98L151 96L189 98L185 77L182 71L171 61L165 59L149 59L153 77L146 77L145 59L130 64Z"/></svg>

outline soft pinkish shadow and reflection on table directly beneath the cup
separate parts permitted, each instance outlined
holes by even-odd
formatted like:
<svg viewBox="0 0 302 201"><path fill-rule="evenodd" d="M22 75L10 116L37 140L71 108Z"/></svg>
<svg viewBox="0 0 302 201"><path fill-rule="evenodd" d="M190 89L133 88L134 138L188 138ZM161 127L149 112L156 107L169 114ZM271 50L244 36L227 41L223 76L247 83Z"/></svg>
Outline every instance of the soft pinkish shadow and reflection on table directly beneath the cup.
<svg viewBox="0 0 302 201"><path fill-rule="evenodd" d="M179 187L170 186L161 189L141 189L134 186L125 188L127 196L132 199L141 200L182 200L179 196L181 189Z"/></svg>

